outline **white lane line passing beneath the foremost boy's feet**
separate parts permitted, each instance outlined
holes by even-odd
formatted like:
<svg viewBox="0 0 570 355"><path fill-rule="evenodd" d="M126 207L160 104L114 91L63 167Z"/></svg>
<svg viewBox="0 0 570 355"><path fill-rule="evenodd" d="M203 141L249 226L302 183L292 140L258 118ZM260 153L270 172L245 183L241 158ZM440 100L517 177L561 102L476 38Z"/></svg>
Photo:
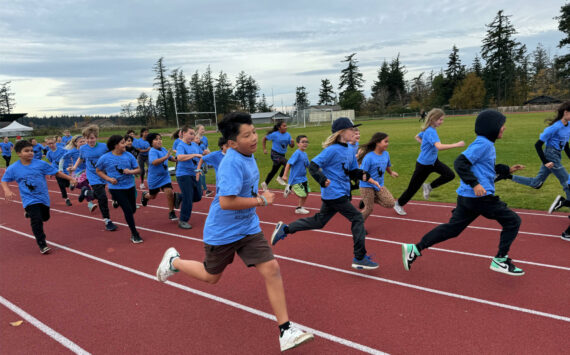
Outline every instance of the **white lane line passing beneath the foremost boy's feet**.
<svg viewBox="0 0 570 355"><path fill-rule="evenodd" d="M2 226L2 225L0 225L0 228L5 229L5 230L7 230L7 231L10 231L10 232L12 232L12 233L19 234L19 235L22 235L22 236L24 236L24 237L27 237L27 238L34 239L34 240L35 240L35 238L34 238L33 235L30 235L30 234L27 234L27 233L24 233L24 232L20 232L20 231L17 231L17 230L15 230L15 229L12 229L12 228L9 228L9 227L5 227L5 226ZM130 268L130 267L128 267L128 266L124 266L124 265L121 265L121 264L117 264L117 263L115 263L115 262L112 262L112 261L109 261L109 260L106 260L106 259L102 259L102 258L99 258L99 257L97 257L97 256L94 256L94 255L91 255L91 254L87 254L87 253L84 253L84 252L82 252L82 251L75 250L75 249L66 247L66 246L64 246L64 245L58 244L58 243L50 242L50 244L51 244L51 245L54 245L54 246L57 246L57 247L60 248L60 249L66 250L66 251L68 251L68 252L70 252L70 253L83 256L83 257L85 257L85 258L87 258L87 259L91 259L91 260L100 262L100 263L102 263L102 264L109 265L109 266L112 266L112 267L114 267L114 268L117 268L117 269L120 269L120 270L123 270L123 271L127 271L127 272L133 273L133 274L135 274L135 275L138 275L138 276L141 276L141 277L145 277L145 278L147 278L147 279L150 279L150 280L153 280L153 281L155 281L155 282L158 282L158 281L156 281L156 276L155 276L155 275L150 275L150 274L144 273L144 272L142 272L142 271L139 271L139 270ZM176 283L176 282L172 282L172 281L167 281L165 284L166 284L166 285L169 285L169 286L172 286L172 287L175 287L175 288L178 288L178 289L180 289L180 290L183 290L183 291L186 291L186 292L195 294L195 295L197 295L197 296L201 296L201 297L207 298L207 299L212 300L212 301L215 301L215 302L223 303L223 304L228 305L228 306L230 306L230 307L237 308L237 309L239 309L239 310L242 310L242 311L245 311L245 312L254 314L254 315L259 316L259 317L262 317L262 318L266 318L266 319L269 319L269 320L272 320L272 321L277 321L277 319L275 318L275 316L272 315L272 314L269 314L269 313L260 311L260 310L258 310L258 309L255 309L255 308L252 308L252 307L243 305L243 304L241 304L241 303L237 303L237 302L228 300L228 299L226 299L226 298L222 298L222 297L219 297L219 296L215 296L215 295L212 295L212 294L210 294L210 293L203 292L203 291L200 291L200 290L196 290L196 289L193 289L193 288L190 288L190 287L188 287L188 286L185 286L185 285L182 285L182 284L179 284L179 283ZM321 338L327 339L327 340L329 340L329 341L332 341L332 342L335 342L335 343L338 343L338 344L344 345L344 346L346 346L346 347L353 348L353 349L356 349L356 350L359 350L359 351L362 351L362 352L365 352L365 353L368 353L368 354L387 354L387 353L385 353L385 352L383 352L383 351L380 351L380 350L378 350L378 349L374 349L374 348L368 347L368 346L366 346L366 345L362 345L362 344L359 344L359 343L350 341L350 340L348 340L348 339L340 338L340 337L337 337L337 336L335 336L335 335L332 335L332 334L329 334L329 333L326 333L326 332L322 332L322 331L317 330L317 329L313 329L313 328L307 327L307 326L302 325L302 324L299 324L299 323L297 323L297 322L295 322L295 325L298 325L299 328L301 328L301 329L303 329L303 330L305 330L305 331L311 332L311 333L313 333L313 334L316 335L316 336L320 336Z"/></svg>

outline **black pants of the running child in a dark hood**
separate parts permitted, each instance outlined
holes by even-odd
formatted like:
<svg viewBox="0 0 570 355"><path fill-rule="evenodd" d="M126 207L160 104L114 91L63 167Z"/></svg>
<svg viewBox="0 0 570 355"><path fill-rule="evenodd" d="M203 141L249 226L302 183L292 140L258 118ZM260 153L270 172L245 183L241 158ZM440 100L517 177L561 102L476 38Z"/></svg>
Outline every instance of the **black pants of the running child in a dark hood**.
<svg viewBox="0 0 570 355"><path fill-rule="evenodd" d="M416 246L423 250L455 238L479 216L494 219L503 227L497 257L506 256L519 232L521 218L509 209L499 196L494 195L476 198L457 196L457 207L453 210L449 222L432 229Z"/></svg>

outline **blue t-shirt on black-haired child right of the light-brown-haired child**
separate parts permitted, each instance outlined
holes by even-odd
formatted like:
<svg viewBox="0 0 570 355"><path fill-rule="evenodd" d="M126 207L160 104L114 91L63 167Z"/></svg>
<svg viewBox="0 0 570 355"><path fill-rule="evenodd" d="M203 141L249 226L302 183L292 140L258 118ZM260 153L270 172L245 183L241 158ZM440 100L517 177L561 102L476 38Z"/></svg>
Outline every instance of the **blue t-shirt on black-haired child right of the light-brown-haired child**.
<svg viewBox="0 0 570 355"><path fill-rule="evenodd" d="M135 157L129 153L124 152L121 155L115 155L113 152L105 153L97 160L96 168L104 171L110 178L117 179L115 185L108 181L107 187L110 190L130 189L135 186L135 179L131 174L123 174L122 169L136 169L139 166ZM91 180L89 180L91 182Z"/></svg>

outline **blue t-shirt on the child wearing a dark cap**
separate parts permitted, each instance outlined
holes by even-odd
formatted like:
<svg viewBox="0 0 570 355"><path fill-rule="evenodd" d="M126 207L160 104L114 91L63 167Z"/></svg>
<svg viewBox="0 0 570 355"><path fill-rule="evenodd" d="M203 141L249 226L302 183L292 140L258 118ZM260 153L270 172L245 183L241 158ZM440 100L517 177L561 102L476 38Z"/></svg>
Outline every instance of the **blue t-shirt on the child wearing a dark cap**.
<svg viewBox="0 0 570 355"><path fill-rule="evenodd" d="M346 144L333 144L317 155L313 162L322 170L330 180L328 187L321 187L323 200L334 200L343 196L350 196L350 178L347 173L358 169L354 150Z"/></svg>

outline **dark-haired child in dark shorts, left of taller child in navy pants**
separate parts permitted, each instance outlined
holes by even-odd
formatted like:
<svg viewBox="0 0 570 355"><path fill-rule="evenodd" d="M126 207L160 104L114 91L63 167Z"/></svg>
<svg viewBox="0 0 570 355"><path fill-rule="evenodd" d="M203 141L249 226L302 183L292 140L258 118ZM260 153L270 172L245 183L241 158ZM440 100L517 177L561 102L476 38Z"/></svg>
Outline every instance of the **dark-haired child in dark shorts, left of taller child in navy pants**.
<svg viewBox="0 0 570 355"><path fill-rule="evenodd" d="M154 200L160 191L166 194L168 201L168 219L176 221L174 208L180 207L182 196L172 191L172 179L168 173L168 162L176 161L172 154L172 149L166 150L162 146L162 136L159 133L149 133L146 140L151 148L148 152L148 192L142 192L141 204L146 206L149 200Z"/></svg>

